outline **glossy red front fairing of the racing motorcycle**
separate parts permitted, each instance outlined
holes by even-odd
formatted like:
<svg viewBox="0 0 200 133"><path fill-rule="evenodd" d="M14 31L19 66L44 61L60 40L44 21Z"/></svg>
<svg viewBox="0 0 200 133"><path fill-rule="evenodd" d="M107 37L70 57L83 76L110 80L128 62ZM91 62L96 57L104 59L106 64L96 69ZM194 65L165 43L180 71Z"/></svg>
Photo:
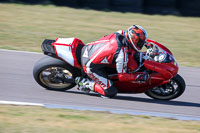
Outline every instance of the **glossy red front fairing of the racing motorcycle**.
<svg viewBox="0 0 200 133"><path fill-rule="evenodd" d="M140 83L137 81L120 82L117 76L111 76L110 78L113 79L116 87L118 88L119 93L145 92L150 88L168 83L170 79L173 78L177 74L178 64L176 63L176 60L173 57L173 54L171 53L171 51L167 49L164 45L157 43L153 40L148 40L148 42L154 43L158 47L160 47L162 50L164 50L163 52L166 55L168 54L171 60L167 62L145 60L144 61L145 68L153 71L153 73L149 75L149 79L145 83Z"/></svg>

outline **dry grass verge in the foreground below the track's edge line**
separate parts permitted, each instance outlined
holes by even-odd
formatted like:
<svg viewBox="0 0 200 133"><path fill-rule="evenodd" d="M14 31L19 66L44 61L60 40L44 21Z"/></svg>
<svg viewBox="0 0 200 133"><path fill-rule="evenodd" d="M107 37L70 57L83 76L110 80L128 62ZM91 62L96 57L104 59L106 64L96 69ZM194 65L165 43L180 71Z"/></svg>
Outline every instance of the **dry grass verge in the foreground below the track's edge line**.
<svg viewBox="0 0 200 133"><path fill-rule="evenodd" d="M0 105L0 133L199 133L199 121Z"/></svg>

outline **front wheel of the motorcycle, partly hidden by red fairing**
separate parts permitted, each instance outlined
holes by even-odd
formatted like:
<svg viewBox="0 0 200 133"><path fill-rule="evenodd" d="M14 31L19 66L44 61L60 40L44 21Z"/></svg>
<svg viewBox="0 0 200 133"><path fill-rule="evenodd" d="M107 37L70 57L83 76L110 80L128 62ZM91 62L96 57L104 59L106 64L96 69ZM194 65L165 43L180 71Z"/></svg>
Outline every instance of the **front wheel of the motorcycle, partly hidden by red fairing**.
<svg viewBox="0 0 200 133"><path fill-rule="evenodd" d="M181 96L184 91L185 81L177 74L169 83L149 89L145 94L154 99L171 100Z"/></svg>

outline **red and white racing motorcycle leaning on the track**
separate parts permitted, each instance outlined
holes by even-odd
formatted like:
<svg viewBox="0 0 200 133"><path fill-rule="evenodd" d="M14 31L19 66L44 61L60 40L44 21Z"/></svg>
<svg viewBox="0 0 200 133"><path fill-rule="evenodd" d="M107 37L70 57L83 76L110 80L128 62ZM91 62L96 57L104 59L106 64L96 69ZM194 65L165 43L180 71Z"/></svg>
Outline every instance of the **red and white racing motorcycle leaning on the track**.
<svg viewBox="0 0 200 133"><path fill-rule="evenodd" d="M178 64L172 52L164 45L147 40L150 48L139 57L139 67L132 73L148 71L145 83L120 82L115 68L107 68L118 93L145 93L151 98L171 100L185 90L184 79L177 74ZM65 91L76 86L77 76L86 76L81 67L81 49L85 44L77 38L57 38L44 40L42 50L45 56L35 63L33 76L38 84L48 90ZM131 72L130 72L131 73Z"/></svg>

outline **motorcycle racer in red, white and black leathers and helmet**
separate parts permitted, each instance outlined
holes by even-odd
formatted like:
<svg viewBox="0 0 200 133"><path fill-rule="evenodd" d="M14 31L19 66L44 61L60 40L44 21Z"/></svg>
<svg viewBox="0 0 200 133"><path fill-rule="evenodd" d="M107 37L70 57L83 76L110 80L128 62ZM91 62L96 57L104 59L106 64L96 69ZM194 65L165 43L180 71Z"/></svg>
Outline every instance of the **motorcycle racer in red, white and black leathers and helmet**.
<svg viewBox="0 0 200 133"><path fill-rule="evenodd" d="M114 97L117 88L108 78L105 71L107 66L116 66L120 81L142 81L148 79L148 74L128 73L138 67L136 55L143 48L147 40L146 30L133 25L126 32L104 36L103 38L85 45L81 52L81 63L84 72L92 79L77 77L75 79L79 89L88 93L94 91L102 96Z"/></svg>

